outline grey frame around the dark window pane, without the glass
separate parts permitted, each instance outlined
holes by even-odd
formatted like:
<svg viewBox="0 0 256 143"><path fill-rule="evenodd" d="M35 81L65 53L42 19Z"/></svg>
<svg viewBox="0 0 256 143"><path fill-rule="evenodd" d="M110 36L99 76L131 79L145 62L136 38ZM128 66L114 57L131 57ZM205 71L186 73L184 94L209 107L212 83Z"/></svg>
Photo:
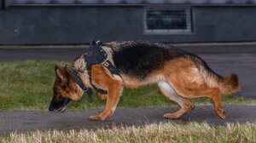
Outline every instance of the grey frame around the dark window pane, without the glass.
<svg viewBox="0 0 256 143"><path fill-rule="evenodd" d="M185 10L187 29L152 29L147 26L148 10ZM192 11L190 7L143 8L143 34L144 35L186 35L192 34Z"/></svg>

